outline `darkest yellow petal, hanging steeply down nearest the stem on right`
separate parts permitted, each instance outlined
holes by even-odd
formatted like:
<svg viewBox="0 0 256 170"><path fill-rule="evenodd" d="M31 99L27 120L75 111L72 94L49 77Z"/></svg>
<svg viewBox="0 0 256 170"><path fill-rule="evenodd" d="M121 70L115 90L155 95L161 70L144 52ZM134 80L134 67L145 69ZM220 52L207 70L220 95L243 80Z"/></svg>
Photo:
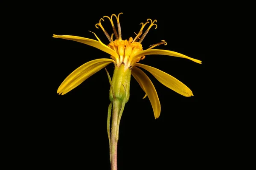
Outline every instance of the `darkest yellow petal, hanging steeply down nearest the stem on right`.
<svg viewBox="0 0 256 170"><path fill-rule="evenodd" d="M148 99L151 102L154 111L155 119L157 119L160 116L161 105L153 83L148 78L148 76L142 70L140 70L140 68L133 67L131 74L140 84L140 87L143 89L143 91L145 91L145 93L148 95Z"/></svg>

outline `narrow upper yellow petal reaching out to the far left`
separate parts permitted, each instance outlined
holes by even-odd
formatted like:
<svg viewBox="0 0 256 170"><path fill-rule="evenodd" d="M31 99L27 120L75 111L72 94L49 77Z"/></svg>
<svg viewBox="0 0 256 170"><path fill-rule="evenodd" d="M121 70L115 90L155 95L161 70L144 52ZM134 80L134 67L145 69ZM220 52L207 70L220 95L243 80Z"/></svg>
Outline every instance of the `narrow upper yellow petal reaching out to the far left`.
<svg viewBox="0 0 256 170"><path fill-rule="evenodd" d="M86 45L90 45L90 46L93 46L95 48L98 48L98 49L110 54L113 57L117 57L117 58L119 57L118 54L116 53L116 51L113 51L111 48L109 48L107 45L103 44L101 41L96 41L96 40L93 40L93 39L78 37L78 36L72 36L72 35L55 35L55 34L53 34L52 37L81 42L81 43L84 43ZM96 38L98 39L97 36L96 36Z"/></svg>

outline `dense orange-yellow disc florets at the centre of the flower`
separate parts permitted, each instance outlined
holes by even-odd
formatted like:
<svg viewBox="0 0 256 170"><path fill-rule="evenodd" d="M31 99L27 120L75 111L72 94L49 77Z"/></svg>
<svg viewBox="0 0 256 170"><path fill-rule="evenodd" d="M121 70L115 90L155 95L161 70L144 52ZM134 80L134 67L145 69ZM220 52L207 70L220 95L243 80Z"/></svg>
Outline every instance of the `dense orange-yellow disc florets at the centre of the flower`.
<svg viewBox="0 0 256 170"><path fill-rule="evenodd" d="M116 61L116 65L125 64L125 68L129 68L134 65L140 59L144 59L145 56L142 56L140 59L133 58L134 54L143 50L140 42L132 42L132 38L129 40L114 40L108 44L108 47L116 51L119 55L119 58L111 56L112 59Z"/></svg>

